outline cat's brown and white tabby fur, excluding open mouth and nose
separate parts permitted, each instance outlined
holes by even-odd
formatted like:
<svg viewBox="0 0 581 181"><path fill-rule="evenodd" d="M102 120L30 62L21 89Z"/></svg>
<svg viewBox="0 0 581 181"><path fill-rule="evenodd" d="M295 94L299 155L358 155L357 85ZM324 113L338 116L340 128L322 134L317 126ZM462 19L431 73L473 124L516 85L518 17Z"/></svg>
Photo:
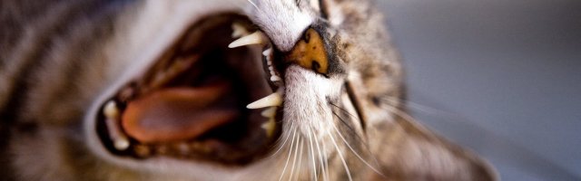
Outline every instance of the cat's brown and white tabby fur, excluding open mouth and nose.
<svg viewBox="0 0 581 181"><path fill-rule="evenodd" d="M399 54L373 3L321 1L0 2L0 180L497 179L406 113ZM287 70L280 152L236 168L105 153L90 131L103 98L223 12L248 15L282 52L308 27L330 44L328 77Z"/></svg>

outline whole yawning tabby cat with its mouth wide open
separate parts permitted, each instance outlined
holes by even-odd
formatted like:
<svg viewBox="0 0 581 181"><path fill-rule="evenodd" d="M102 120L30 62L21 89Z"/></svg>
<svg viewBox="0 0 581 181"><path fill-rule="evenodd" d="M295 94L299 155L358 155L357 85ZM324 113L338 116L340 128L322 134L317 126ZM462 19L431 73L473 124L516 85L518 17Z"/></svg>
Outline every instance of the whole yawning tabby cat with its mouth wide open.
<svg viewBox="0 0 581 181"><path fill-rule="evenodd" d="M497 180L368 0L5 0L2 180Z"/></svg>

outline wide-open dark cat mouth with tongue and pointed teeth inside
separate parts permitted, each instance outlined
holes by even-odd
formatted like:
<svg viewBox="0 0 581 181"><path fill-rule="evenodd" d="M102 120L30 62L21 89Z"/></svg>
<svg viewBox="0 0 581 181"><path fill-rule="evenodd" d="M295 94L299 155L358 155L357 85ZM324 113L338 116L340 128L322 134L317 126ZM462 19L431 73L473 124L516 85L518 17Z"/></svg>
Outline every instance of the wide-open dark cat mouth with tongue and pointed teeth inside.
<svg viewBox="0 0 581 181"><path fill-rule="evenodd" d="M104 147L136 159L240 165L263 157L281 134L283 88L271 46L241 15L197 22L103 103L96 129Z"/></svg>

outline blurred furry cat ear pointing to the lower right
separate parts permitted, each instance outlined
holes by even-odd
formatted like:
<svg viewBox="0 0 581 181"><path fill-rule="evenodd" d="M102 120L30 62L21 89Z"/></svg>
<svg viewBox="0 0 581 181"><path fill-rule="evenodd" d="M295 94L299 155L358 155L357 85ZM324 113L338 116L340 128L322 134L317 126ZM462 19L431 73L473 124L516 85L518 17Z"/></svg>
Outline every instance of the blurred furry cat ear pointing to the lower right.
<svg viewBox="0 0 581 181"><path fill-rule="evenodd" d="M498 180L496 171L464 148L413 123L393 123L377 150L381 170L400 180ZM377 176L378 180L382 176ZM399 179L396 179L399 180Z"/></svg>

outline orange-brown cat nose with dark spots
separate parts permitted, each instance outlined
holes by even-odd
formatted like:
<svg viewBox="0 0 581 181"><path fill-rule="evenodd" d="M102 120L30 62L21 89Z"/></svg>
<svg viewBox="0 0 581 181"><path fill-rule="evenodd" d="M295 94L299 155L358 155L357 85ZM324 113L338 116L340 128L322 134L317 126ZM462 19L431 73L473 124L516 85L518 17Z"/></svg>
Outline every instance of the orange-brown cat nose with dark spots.
<svg viewBox="0 0 581 181"><path fill-rule="evenodd" d="M295 63L305 69L309 69L327 75L329 69L329 57L326 51L323 37L315 29L309 28L302 35L291 52L285 55L285 62Z"/></svg>

